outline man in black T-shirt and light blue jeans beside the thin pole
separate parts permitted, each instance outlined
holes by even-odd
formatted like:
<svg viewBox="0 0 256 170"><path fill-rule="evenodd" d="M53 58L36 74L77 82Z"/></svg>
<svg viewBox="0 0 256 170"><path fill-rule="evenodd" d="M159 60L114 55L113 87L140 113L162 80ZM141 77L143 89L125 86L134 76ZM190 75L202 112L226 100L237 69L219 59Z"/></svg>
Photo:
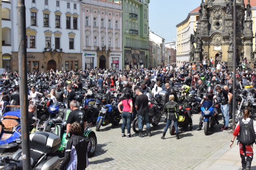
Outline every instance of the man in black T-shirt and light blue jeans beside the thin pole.
<svg viewBox="0 0 256 170"><path fill-rule="evenodd" d="M229 114L228 114L228 110L229 110L229 104L231 102L231 99L233 97L233 95L226 91L225 89L221 88L221 86L216 86L216 91L219 93L219 97L221 98L221 111L222 111L222 115L223 115L223 120L224 120L224 125L222 126L222 128L220 128L223 131L228 130L228 123L229 123ZM228 99L229 96L229 99Z"/></svg>

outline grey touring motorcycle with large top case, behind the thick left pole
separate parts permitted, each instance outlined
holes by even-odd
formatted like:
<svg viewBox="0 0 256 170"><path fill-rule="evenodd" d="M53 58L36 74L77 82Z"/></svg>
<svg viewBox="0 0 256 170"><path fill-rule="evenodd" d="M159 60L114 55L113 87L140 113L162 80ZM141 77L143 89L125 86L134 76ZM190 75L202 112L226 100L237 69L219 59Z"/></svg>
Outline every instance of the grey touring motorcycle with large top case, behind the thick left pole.
<svg viewBox="0 0 256 170"><path fill-rule="evenodd" d="M31 169L55 170L60 167L60 159L54 155L60 146L59 136L50 132L34 132L30 136ZM23 168L22 150L12 157L2 156L1 170L19 170Z"/></svg>

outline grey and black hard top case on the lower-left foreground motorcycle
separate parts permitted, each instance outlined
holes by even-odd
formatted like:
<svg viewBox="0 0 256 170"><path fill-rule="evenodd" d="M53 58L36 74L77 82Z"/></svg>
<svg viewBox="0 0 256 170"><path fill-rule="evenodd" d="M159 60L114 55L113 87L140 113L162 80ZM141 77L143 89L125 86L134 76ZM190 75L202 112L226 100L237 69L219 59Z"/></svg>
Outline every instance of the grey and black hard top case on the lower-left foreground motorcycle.
<svg viewBox="0 0 256 170"><path fill-rule="evenodd" d="M34 132L29 135L30 148L44 153L54 153L60 147L61 139L51 132Z"/></svg>

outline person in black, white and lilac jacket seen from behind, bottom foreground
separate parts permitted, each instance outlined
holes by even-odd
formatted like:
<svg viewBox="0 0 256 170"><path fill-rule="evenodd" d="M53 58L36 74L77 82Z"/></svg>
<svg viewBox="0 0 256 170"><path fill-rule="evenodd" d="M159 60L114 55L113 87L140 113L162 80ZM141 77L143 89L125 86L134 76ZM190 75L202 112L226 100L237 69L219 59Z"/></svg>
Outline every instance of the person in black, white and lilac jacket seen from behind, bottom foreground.
<svg viewBox="0 0 256 170"><path fill-rule="evenodd" d="M90 139L80 135L81 125L78 122L71 124L70 131L73 135L67 142L65 157L59 169L85 169L89 165L88 150L90 148Z"/></svg>

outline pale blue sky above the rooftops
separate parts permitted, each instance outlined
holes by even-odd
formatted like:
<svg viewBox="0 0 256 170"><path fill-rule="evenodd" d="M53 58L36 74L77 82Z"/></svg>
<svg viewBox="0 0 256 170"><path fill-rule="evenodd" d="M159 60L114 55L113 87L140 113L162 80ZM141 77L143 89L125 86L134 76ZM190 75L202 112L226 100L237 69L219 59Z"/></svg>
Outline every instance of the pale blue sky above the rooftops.
<svg viewBox="0 0 256 170"><path fill-rule="evenodd" d="M165 38L165 43L173 41L177 34L176 25L184 21L188 13L200 6L201 2L201 0L150 0L148 5L150 31Z"/></svg>

